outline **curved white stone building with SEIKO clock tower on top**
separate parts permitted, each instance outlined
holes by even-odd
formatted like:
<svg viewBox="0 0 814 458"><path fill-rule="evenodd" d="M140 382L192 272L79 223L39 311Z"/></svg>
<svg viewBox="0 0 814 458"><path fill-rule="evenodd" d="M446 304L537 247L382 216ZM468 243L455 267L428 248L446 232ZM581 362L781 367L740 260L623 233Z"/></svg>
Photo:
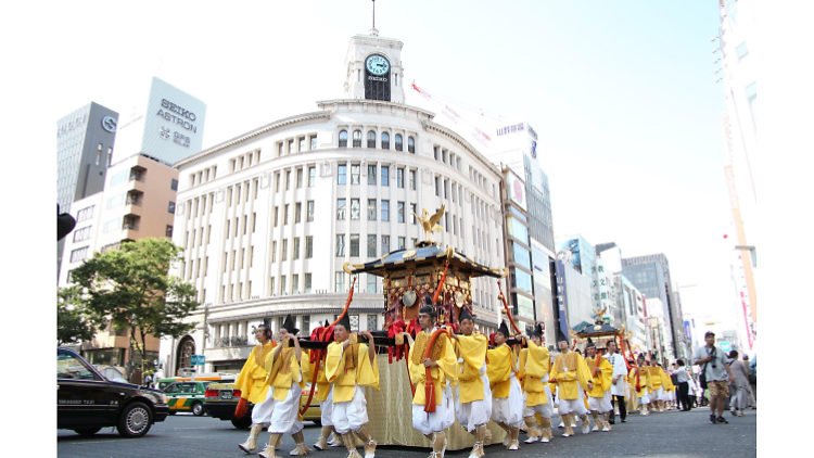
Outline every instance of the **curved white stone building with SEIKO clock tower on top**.
<svg viewBox="0 0 814 458"><path fill-rule="evenodd" d="M196 328L164 340L167 373L204 355L206 371L239 371L264 320L285 315L301 335L333 321L353 279L342 268L422 240L412 213L442 205L442 246L505 267L498 168L434 115L405 105L398 40L355 36L346 56L347 99L247 131L176 163L173 240L185 260L171 275L192 282ZM500 280L507 291L505 280ZM476 326L497 329L494 279L473 281ZM356 278L352 327L384 325L381 279Z"/></svg>

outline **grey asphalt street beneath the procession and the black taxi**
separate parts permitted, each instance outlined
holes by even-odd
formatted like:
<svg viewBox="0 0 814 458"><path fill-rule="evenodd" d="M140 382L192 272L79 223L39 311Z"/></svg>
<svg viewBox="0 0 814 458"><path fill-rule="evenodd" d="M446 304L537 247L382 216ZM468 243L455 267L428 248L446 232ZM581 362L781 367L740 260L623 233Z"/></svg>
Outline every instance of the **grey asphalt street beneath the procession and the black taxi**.
<svg viewBox="0 0 814 458"><path fill-rule="evenodd" d="M648 417L633 415L626 423L616 424L611 432L592 432L588 435L577 433L574 437L561 437L562 430L555 428L555 437L548 444L523 444L518 451L508 451L496 444L486 448L486 456L501 457L590 457L601 456L661 456L661 457L753 457L758 455L758 418L756 410L748 410L747 417L736 418L726 412L729 424L709 424L709 409L699 408L690 412L667 411ZM555 419L557 417L555 416ZM410 422L407 421L409 425ZM577 423L577 430L578 423ZM310 422L305 427L306 444L316 442L319 428ZM104 429L93 437L80 437L73 431L58 430L56 449L60 457L82 458L127 458L127 457L243 457L246 456L238 444L243 442L247 430L236 430L228 421L209 417L177 415L156 423L147 436L126 440L115 430ZM258 443L266 443L268 433L260 435ZM520 435L525 438L524 434ZM288 456L294 443L290 436L284 437L280 456ZM311 447L313 448L313 447ZM361 447L359 447L361 453ZM428 449L399 449L380 447L379 457L425 458ZM344 458L343 448L331 448L328 451L315 450L316 457ZM449 451L447 456L466 458L469 450Z"/></svg>

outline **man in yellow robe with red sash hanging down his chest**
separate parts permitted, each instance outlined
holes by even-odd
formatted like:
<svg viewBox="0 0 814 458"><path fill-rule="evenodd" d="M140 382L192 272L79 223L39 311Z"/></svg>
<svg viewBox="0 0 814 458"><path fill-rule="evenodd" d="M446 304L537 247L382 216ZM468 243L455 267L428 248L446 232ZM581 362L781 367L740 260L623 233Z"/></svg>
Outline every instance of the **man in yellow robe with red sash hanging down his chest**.
<svg viewBox="0 0 814 458"><path fill-rule="evenodd" d="M435 327L437 311L432 305L424 305L419 309L418 322L421 332L412 336L406 332L410 344L410 354L407 357L410 380L416 386L412 396L412 428L417 429L432 443L430 458L443 458L446 451L446 430L455 423L455 403L453 400L453 387L458 383L458 361L455 357L455 348L450 340L440 335L433 345L430 356L425 352L430 338L440 328ZM435 398L435 411L424 411L427 400L425 382L427 369L430 369L430 379Z"/></svg>

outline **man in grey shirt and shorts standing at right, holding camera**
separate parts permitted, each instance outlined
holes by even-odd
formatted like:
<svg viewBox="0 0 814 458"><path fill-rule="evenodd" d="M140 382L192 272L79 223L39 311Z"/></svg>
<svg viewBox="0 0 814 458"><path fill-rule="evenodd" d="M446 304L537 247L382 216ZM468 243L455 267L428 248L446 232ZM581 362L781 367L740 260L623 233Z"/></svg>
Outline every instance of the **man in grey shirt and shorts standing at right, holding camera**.
<svg viewBox="0 0 814 458"><path fill-rule="evenodd" d="M707 345L696 349L695 364L701 366L701 387L710 391L710 423L728 423L724 418L724 406L729 397L729 383L735 383L735 377L726 354L715 346L715 333L708 331L703 339Z"/></svg>

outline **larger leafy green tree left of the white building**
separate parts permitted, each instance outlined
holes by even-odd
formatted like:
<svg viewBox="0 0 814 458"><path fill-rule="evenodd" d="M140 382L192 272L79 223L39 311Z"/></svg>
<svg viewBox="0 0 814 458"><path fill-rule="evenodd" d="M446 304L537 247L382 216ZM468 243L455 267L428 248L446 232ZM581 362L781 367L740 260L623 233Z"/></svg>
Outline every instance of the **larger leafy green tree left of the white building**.
<svg viewBox="0 0 814 458"><path fill-rule="evenodd" d="M147 335L178 339L195 327L183 322L199 306L195 288L168 273L170 265L181 260L182 251L166 239L141 239L125 242L119 250L94 253L72 271L93 325L110 321L117 330L130 330L130 343L141 354L142 373Z"/></svg>

